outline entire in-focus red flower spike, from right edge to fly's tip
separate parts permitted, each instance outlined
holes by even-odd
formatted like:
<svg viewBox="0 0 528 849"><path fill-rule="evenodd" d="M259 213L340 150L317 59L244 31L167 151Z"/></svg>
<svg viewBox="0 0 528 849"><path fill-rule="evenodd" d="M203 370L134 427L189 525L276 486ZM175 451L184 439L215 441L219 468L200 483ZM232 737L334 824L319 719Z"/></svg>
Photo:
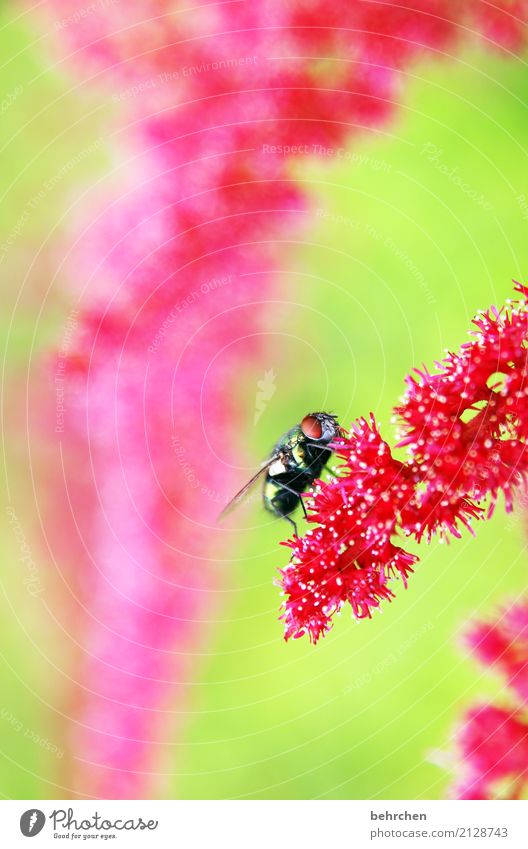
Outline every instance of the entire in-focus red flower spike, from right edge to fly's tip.
<svg viewBox="0 0 528 849"><path fill-rule="evenodd" d="M407 462L392 456L372 415L334 444L342 475L318 481L309 502L319 527L286 543L286 639L308 632L315 643L345 602L363 619L391 601L388 580L399 575L406 586L418 560L398 536L459 537L460 525L471 531L484 516L486 498L491 515L500 492L512 509L528 472L528 290L516 289L524 299L479 315L471 341L437 363L435 374L424 368L407 378L394 410Z"/></svg>

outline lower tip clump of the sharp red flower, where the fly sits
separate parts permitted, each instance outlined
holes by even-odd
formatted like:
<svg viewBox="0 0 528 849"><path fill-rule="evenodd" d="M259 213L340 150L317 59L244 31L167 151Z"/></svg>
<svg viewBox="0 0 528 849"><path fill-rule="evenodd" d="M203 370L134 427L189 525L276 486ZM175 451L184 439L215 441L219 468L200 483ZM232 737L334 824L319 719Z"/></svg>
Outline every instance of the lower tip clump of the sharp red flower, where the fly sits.
<svg viewBox="0 0 528 849"><path fill-rule="evenodd" d="M406 583L418 559L391 541L414 485L408 467L381 439L374 417L370 424L360 419L335 447L346 474L318 483L311 518L320 527L287 543L293 557L282 570L286 639L307 631L317 642L347 601L358 619L370 616L393 596L388 579L400 575Z"/></svg>

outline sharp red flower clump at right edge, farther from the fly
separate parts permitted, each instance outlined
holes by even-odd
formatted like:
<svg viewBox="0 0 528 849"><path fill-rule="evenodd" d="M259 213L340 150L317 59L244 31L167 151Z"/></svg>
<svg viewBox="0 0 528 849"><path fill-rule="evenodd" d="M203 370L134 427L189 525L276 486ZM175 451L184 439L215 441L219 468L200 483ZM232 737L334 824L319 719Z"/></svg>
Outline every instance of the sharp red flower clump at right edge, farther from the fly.
<svg viewBox="0 0 528 849"><path fill-rule="evenodd" d="M520 285L517 291L526 296ZM525 474L528 433L526 301L474 319L471 342L437 363L438 373L416 370L395 412L400 445L427 484L477 500L502 491L506 509Z"/></svg>

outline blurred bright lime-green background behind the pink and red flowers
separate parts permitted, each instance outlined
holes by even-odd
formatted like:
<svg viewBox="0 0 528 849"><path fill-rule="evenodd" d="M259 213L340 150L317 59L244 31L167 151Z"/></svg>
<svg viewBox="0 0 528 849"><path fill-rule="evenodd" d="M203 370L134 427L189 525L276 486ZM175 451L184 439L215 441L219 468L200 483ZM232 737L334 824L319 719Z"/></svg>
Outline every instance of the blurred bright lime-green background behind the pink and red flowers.
<svg viewBox="0 0 528 849"><path fill-rule="evenodd" d="M8 104L1 116L0 243L43 181L75 160L0 257L9 399L24 391L30 363L67 314L60 286L47 293L53 243L67 235L70 200L109 168L104 146L86 149L103 127L108 135L111 116L96 91L83 88L82 99L70 91L71 78L51 67L48 45L34 31L22 22L0 25L0 100ZM407 76L403 108L390 126L356 138L333 160L292 167L310 209L302 235L284 244L277 303L266 312L266 349L241 389L248 463L257 465L311 409L336 411L345 424L372 410L391 441L391 407L405 374L458 347L472 315L509 297L511 278L526 279L523 62L466 50ZM269 370L275 392L254 424L257 383ZM5 498L9 503L14 490L20 503L31 484L17 476L23 433L16 421L4 436ZM31 538L36 517L28 508L21 520ZM409 589L396 587L383 615L358 624L344 612L314 648L307 639L286 645L277 621L272 580L287 561L278 547L285 526L254 505L242 509L232 523L233 555L217 566L219 621L184 706L182 733L166 755L174 775L162 792L441 798L457 717L476 698L506 698L501 683L460 650L459 634L470 617L524 592L524 521L499 508L476 539L422 545ZM31 622L6 511L2 522L0 792L60 796L61 758L26 730L67 750L54 710L65 679L41 674L48 637L39 634L37 648L38 622ZM68 647L61 650L67 657ZM439 759L444 766L433 762Z"/></svg>

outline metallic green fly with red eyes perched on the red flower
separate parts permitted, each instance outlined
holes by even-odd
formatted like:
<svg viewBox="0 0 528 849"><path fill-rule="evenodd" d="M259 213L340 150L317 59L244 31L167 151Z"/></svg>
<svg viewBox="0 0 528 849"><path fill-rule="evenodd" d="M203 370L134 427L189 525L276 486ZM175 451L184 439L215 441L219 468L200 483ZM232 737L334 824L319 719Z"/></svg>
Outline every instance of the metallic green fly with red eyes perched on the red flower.
<svg viewBox="0 0 528 849"><path fill-rule="evenodd" d="M219 519L240 504L253 485L264 478L264 507L274 516L290 522L297 535L297 525L290 513L300 504L307 518L301 495L320 477L332 455L329 445L341 435L334 415L309 413L300 424L281 436L270 457L222 510Z"/></svg>

